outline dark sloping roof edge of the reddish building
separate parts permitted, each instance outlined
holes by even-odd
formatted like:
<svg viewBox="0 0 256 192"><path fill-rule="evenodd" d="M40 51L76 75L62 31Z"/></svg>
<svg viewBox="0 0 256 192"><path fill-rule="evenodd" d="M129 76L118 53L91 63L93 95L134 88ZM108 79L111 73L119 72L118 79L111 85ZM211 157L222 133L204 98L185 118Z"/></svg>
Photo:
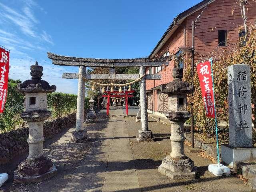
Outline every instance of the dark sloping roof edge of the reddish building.
<svg viewBox="0 0 256 192"><path fill-rule="evenodd" d="M184 19L186 19L188 16L190 16L194 12L204 8L205 6L207 6L208 4L210 4L214 1L215 0L203 0L202 2L196 4L195 6L187 9L186 11L184 11L180 14L178 14L178 16L176 16L176 18L174 18L173 22L170 24L170 26L168 27L168 29L166 30L166 32L164 33L162 38L158 41L155 48L152 50L152 52L150 53L150 55L148 57L152 58L156 55L156 53L162 48L164 43L176 31L176 29L178 28L177 24L181 24L184 21Z"/></svg>

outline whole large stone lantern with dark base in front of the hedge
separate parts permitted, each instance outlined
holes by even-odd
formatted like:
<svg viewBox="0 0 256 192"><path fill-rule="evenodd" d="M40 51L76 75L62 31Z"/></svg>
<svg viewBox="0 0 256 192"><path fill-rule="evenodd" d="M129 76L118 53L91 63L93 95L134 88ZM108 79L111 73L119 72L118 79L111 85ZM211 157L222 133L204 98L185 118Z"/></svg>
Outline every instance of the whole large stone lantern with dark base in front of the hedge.
<svg viewBox="0 0 256 192"><path fill-rule="evenodd" d="M56 90L48 82L41 80L43 67L36 62L30 66L31 80L18 84L18 90L25 94L25 110L21 113L24 121L28 122L28 157L18 165L14 172L14 182L41 182L56 174L52 161L43 155L43 124L51 116L47 110L47 93Z"/></svg>

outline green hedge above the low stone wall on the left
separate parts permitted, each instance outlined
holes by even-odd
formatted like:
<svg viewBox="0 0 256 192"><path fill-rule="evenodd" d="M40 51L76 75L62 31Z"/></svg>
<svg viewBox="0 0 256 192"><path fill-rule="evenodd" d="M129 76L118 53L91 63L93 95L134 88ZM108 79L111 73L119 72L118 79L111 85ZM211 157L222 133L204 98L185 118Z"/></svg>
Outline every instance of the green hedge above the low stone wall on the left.
<svg viewBox="0 0 256 192"><path fill-rule="evenodd" d="M0 116L0 133L14 130L22 122L20 113L24 110L24 94L18 92L17 84L20 80L8 80L8 91L4 113ZM58 118L76 111L77 95L54 92L47 94L48 108L52 117ZM89 98L85 98L85 109L89 108Z"/></svg>

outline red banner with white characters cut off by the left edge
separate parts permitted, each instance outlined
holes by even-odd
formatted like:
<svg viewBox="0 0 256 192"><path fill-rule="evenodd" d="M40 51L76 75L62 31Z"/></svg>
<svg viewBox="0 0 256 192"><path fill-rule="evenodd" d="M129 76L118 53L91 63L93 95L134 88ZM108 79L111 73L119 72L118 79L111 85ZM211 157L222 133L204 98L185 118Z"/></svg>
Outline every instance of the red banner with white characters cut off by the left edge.
<svg viewBox="0 0 256 192"><path fill-rule="evenodd" d="M0 113L4 112L4 104L7 96L9 56L10 52L0 47Z"/></svg>

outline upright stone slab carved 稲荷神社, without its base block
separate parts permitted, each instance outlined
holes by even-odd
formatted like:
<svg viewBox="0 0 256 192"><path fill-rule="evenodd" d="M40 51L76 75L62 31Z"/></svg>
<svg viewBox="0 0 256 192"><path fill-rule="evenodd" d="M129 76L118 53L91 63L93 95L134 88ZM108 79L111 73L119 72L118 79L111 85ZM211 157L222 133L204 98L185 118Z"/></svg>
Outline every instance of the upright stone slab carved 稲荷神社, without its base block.
<svg viewBox="0 0 256 192"><path fill-rule="evenodd" d="M252 147L250 66L228 67L229 137L233 147Z"/></svg>

